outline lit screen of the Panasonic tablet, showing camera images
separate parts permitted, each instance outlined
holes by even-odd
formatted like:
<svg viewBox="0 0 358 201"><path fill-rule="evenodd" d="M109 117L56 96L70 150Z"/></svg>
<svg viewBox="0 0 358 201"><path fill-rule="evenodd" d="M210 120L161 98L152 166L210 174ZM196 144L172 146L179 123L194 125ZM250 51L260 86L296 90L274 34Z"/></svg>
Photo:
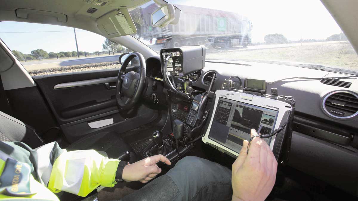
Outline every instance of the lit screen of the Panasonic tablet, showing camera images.
<svg viewBox="0 0 358 201"><path fill-rule="evenodd" d="M239 153L243 141L250 139L252 128L262 125L261 134L275 127L278 111L226 98L219 98L209 138ZM263 138L270 144L271 138Z"/></svg>

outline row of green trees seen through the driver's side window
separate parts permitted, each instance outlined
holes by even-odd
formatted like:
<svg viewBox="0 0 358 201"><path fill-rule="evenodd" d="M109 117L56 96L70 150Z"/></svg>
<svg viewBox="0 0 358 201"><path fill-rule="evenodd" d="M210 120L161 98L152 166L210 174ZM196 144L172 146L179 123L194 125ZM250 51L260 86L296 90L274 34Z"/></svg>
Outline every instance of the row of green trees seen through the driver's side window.
<svg viewBox="0 0 358 201"><path fill-rule="evenodd" d="M88 55L100 55L100 54L112 54L116 53L124 53L124 52L130 52L129 49L125 48L124 46L116 43L115 41L106 39L105 42L102 44L103 51L96 51L96 52L83 52L79 51L79 56L88 56ZM109 52L108 52L109 51ZM49 52L47 53L43 49L35 49L32 50L30 54L23 54L22 52L18 50L12 50L13 54L16 58L18 58L20 61L26 61L26 60L34 60L34 59L53 59L53 58L72 58L77 57L77 51L72 52Z"/></svg>

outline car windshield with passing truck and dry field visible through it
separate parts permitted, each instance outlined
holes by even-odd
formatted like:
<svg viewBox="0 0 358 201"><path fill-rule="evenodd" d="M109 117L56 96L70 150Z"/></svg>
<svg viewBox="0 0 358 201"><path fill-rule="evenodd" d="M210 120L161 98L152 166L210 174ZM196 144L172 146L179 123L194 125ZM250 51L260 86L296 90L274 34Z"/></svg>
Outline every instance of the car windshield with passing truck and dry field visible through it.
<svg viewBox="0 0 358 201"><path fill-rule="evenodd" d="M137 39L162 48L205 45L206 59L274 60L358 71L358 57L319 0L168 0L177 24L151 26L150 1L130 12Z"/></svg>

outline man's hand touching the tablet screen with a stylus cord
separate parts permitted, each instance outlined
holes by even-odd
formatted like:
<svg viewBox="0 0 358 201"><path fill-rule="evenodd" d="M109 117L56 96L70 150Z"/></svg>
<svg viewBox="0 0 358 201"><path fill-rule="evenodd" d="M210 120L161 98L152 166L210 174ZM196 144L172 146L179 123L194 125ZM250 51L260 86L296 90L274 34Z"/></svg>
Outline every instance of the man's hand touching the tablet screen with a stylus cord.
<svg viewBox="0 0 358 201"><path fill-rule="evenodd" d="M257 135L255 129L251 129L253 135ZM275 184L277 161L269 145L261 138L253 138L248 154L247 146L248 141L244 140L232 165L232 200L265 200Z"/></svg>

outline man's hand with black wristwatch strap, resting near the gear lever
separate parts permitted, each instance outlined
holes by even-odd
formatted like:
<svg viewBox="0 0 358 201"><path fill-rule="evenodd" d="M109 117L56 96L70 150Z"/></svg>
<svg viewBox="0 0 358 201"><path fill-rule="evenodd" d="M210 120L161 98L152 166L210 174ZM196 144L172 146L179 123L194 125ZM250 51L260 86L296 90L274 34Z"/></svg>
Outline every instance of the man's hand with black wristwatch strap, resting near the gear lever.
<svg viewBox="0 0 358 201"><path fill-rule="evenodd" d="M169 159L163 155L147 157L133 164L124 166L122 179L124 181L147 183L161 172L161 169L156 165L159 161L164 162L166 165L171 165Z"/></svg>

